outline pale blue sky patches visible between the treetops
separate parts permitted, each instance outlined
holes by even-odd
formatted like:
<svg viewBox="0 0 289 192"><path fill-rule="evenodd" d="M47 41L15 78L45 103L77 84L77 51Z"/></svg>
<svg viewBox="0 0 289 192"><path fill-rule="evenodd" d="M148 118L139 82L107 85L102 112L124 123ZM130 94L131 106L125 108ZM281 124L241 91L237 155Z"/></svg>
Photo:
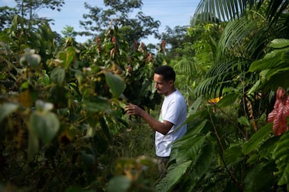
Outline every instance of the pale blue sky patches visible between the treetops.
<svg viewBox="0 0 289 192"><path fill-rule="evenodd" d="M103 6L103 0L65 0L65 5L61 12L52 10L40 10L38 15L54 19L54 25L51 25L52 30L61 33L65 26L73 26L75 31L81 31L79 21L82 20L82 15L88 13L84 8L84 2L91 6ZM155 20L161 22L159 32L165 30L165 26L174 28L175 26L186 26L190 24L191 17L195 13L195 8L200 0L142 0L142 12L144 15L151 16ZM14 0L0 0L0 6L15 6ZM87 38L77 37L77 41L84 42ZM154 38L143 40L144 43L156 43Z"/></svg>

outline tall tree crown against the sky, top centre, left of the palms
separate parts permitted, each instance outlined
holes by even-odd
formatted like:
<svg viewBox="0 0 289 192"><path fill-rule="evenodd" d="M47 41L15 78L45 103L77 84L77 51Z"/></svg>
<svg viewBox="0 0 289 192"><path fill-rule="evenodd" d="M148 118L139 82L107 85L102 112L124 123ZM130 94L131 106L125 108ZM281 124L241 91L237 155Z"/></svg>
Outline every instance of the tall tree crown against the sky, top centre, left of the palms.
<svg viewBox="0 0 289 192"><path fill-rule="evenodd" d="M148 35L158 36L159 21L154 21L150 16L142 13L141 0L114 0L103 1L107 9L97 6L90 6L89 3L84 3L84 7L89 10L89 14L84 14L84 21L80 21L80 25L86 31L81 35L101 35L108 26L116 25L119 27L121 38L127 40L130 45L134 40L147 38ZM135 13L135 10L139 10Z"/></svg>

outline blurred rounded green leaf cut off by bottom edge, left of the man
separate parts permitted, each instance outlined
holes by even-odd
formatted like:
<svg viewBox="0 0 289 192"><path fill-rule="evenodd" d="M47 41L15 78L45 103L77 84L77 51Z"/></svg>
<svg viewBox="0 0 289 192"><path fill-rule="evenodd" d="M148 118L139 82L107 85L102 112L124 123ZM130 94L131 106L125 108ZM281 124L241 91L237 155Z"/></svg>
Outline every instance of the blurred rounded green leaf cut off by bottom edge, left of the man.
<svg viewBox="0 0 289 192"><path fill-rule="evenodd" d="M108 182L108 192L126 192L131 187L131 179L124 175L115 176Z"/></svg>

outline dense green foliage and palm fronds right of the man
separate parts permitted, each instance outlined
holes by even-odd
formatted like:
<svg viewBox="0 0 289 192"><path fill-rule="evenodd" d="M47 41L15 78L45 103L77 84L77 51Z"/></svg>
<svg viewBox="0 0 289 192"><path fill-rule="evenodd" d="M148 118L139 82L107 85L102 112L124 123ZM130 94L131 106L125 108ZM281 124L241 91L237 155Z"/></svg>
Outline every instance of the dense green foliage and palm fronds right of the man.
<svg viewBox="0 0 289 192"><path fill-rule="evenodd" d="M218 2L201 1L192 21L221 29L204 36L202 47L194 49L199 50L196 57L210 64L195 93L217 99L195 101L188 134L174 145L171 161L176 163L156 189L286 191L288 131L275 136L267 114L277 88L288 90L289 2ZM225 18L228 22L221 23ZM198 28L194 25L189 32Z"/></svg>

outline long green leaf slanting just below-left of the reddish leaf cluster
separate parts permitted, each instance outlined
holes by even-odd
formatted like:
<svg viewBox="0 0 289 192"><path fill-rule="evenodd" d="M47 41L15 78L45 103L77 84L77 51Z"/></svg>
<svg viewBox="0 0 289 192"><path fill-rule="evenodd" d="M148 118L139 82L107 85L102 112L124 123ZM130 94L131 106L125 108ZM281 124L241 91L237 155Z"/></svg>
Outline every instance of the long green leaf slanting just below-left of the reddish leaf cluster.
<svg viewBox="0 0 289 192"><path fill-rule="evenodd" d="M270 136L272 136L272 123L265 125L257 132L255 132L250 140L244 143L242 152L244 154L249 154L253 150L258 150L260 145L262 145L264 141L267 141Z"/></svg>

